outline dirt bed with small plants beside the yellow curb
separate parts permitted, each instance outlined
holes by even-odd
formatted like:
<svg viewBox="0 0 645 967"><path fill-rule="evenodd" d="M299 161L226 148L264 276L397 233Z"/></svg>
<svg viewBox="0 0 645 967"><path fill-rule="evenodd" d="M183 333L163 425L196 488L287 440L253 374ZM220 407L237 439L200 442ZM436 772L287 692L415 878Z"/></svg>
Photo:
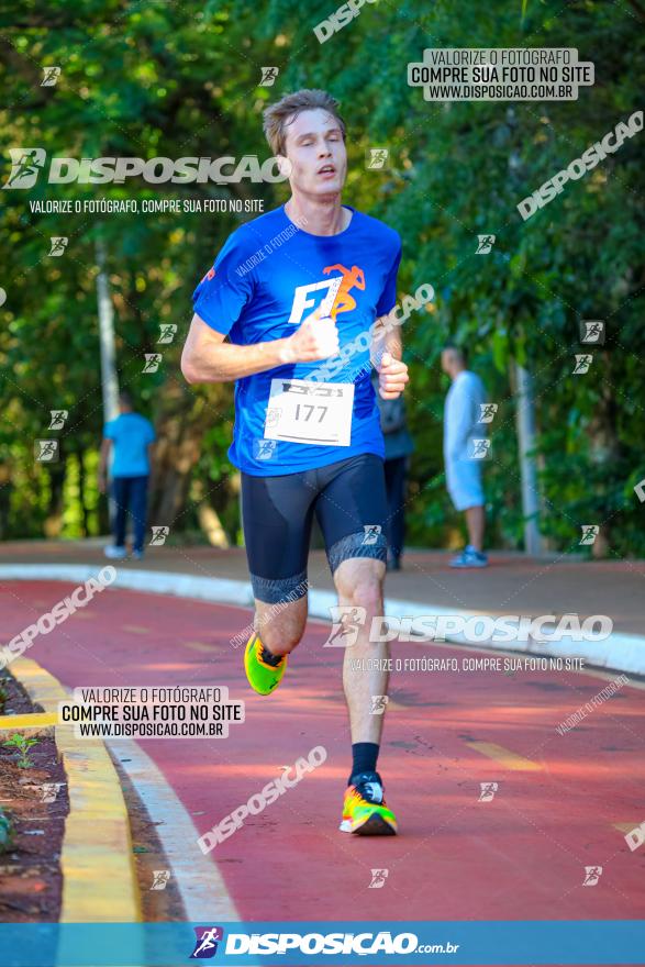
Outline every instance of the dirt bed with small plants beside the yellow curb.
<svg viewBox="0 0 645 967"><path fill-rule="evenodd" d="M0 675L0 719L42 712L8 673ZM27 753L33 765L21 768L16 752L0 731L0 808L12 830L0 848L0 922L56 922L60 913L60 848L69 812L67 778L58 758L54 730L19 734L37 738Z"/></svg>

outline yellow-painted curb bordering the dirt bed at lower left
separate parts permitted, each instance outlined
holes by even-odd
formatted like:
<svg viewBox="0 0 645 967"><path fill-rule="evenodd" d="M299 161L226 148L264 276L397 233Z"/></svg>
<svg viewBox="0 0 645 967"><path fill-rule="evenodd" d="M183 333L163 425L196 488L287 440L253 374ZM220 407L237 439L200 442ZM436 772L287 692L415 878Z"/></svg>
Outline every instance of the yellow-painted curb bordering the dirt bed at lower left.
<svg viewBox="0 0 645 967"><path fill-rule="evenodd" d="M58 702L69 698L60 682L31 658L12 662L11 674L45 710L41 724L44 718L57 721ZM73 725L56 725L54 734L69 793L60 851L60 923L138 922L130 821L108 751L100 741L76 740Z"/></svg>

